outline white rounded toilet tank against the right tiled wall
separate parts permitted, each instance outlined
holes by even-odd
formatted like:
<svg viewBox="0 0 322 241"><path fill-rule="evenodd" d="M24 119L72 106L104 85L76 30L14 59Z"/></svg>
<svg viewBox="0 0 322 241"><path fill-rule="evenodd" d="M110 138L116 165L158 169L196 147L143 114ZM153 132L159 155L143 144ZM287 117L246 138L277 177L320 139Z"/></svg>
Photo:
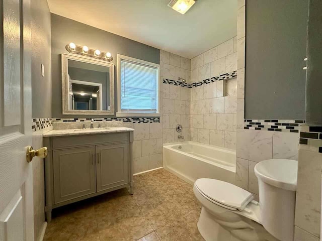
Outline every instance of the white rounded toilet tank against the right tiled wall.
<svg viewBox="0 0 322 241"><path fill-rule="evenodd" d="M260 221L281 241L294 240L297 161L270 159L255 166L260 194Z"/></svg>

